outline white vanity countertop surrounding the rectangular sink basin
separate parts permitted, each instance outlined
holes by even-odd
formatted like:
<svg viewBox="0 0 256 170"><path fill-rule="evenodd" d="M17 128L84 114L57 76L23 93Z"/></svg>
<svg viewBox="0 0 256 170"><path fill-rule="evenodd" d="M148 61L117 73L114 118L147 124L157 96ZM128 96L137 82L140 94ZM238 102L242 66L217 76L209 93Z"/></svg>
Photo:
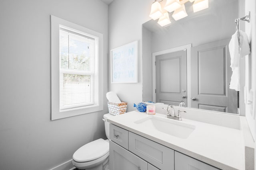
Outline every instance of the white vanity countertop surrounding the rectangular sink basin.
<svg viewBox="0 0 256 170"><path fill-rule="evenodd" d="M107 121L128 131L146 137L178 152L223 170L244 170L244 135L241 129L223 127L182 118L182 123L196 129L186 139L143 127L134 121L147 117L145 112L131 111L110 117ZM156 113L157 117L165 117ZM172 120L170 121L177 121ZM178 129L174 129L178 131Z"/></svg>

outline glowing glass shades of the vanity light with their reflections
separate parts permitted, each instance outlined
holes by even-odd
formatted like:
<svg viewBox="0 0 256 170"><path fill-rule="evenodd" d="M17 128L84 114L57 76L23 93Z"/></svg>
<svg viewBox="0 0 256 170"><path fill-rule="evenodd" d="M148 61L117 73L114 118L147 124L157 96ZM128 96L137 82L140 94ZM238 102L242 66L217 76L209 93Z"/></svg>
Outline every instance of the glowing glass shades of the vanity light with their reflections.
<svg viewBox="0 0 256 170"><path fill-rule="evenodd" d="M158 23L161 26L165 26L171 23L169 19L169 15L164 15L162 12L161 4L163 0L154 0L153 4L151 5L151 11L149 17L153 20L158 20ZM209 0L166 0L166 4L164 10L168 12L173 12L172 18L174 20L180 20L188 16L186 13L186 8L184 4L186 2L194 2L193 4L193 11L198 12L204 10L209 7ZM167 17L168 16L168 17ZM164 23L164 24L163 24Z"/></svg>

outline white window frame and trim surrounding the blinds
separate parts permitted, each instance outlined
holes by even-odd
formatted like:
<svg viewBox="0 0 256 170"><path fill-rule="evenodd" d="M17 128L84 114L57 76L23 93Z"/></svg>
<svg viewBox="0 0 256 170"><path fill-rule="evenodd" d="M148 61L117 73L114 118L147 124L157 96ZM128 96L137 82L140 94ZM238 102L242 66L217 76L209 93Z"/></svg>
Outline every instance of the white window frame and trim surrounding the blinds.
<svg viewBox="0 0 256 170"><path fill-rule="evenodd" d="M98 38L98 51L96 51L95 68L98 76L94 76L94 104L74 109L60 111L60 33L61 28L69 29L75 33L86 33L86 36ZM103 110L103 35L86 27L63 20L51 15L51 120L92 113Z"/></svg>

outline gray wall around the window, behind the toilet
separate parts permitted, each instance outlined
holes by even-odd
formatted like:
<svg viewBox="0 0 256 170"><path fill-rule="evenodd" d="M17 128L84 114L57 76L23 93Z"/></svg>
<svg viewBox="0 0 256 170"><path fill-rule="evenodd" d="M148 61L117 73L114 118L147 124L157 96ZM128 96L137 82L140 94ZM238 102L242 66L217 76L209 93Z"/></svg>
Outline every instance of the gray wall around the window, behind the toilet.
<svg viewBox="0 0 256 170"><path fill-rule="evenodd" d="M51 14L104 35L104 111L50 120ZM0 169L50 169L106 138L108 6L100 0L0 0L0 21Z"/></svg>

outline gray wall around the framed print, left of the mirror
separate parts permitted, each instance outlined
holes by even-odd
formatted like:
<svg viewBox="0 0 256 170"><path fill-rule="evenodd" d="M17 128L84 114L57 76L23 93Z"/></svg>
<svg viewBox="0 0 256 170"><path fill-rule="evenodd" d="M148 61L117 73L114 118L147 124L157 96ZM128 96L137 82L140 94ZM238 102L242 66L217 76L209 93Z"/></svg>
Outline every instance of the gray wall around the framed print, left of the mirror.
<svg viewBox="0 0 256 170"><path fill-rule="evenodd" d="M150 19L151 4L151 0L114 0L108 7L109 59L111 49L138 41L138 83L112 84L108 74L109 91L128 102L127 111L135 109L133 103L142 102L142 23Z"/></svg>

